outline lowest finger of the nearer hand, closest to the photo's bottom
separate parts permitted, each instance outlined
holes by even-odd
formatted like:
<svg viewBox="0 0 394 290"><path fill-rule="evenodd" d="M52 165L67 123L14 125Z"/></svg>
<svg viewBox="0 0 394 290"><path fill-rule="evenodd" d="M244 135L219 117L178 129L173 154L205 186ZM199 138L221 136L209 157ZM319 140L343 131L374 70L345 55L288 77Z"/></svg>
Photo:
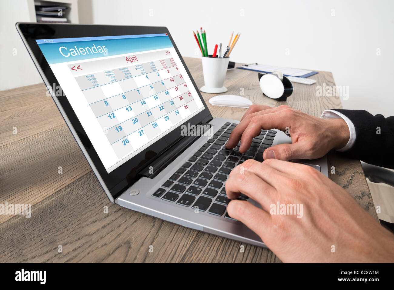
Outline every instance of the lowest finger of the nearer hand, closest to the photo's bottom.
<svg viewBox="0 0 394 290"><path fill-rule="evenodd" d="M244 223L264 241L263 235L269 232L271 227L271 216L268 212L247 201L233 200L227 206L227 213L230 217Z"/></svg>

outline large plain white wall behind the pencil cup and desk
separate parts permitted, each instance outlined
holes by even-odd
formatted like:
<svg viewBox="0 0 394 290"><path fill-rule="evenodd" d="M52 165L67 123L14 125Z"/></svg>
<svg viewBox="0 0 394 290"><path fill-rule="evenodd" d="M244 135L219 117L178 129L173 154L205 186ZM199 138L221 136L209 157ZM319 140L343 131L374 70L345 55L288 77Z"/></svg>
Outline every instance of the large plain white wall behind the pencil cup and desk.
<svg viewBox="0 0 394 290"><path fill-rule="evenodd" d="M97 24L167 26L183 56L198 55L191 30L200 26L211 53L232 30L241 32L232 61L331 71L337 85L349 86L344 108L394 115L392 0L93 0L92 6Z"/></svg>

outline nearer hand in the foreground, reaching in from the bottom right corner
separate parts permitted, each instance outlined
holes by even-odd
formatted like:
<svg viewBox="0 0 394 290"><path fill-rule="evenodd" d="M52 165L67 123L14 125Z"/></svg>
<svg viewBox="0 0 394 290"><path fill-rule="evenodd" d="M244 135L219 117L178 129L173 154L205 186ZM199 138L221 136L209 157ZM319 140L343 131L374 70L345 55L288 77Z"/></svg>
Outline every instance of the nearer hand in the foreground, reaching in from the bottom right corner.
<svg viewBox="0 0 394 290"><path fill-rule="evenodd" d="M227 210L283 262L394 262L394 235L308 165L246 160L231 171L226 192L229 199L243 193L260 203L262 209L232 200ZM278 202L302 204L300 217L270 214Z"/></svg>

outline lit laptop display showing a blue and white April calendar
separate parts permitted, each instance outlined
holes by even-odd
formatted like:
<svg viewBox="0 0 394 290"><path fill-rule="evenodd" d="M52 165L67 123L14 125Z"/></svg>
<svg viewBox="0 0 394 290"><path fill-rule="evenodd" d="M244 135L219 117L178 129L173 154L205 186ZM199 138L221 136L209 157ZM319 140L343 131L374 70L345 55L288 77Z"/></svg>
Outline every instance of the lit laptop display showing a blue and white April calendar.
<svg viewBox="0 0 394 290"><path fill-rule="evenodd" d="M36 42L108 173L204 110L166 33Z"/></svg>

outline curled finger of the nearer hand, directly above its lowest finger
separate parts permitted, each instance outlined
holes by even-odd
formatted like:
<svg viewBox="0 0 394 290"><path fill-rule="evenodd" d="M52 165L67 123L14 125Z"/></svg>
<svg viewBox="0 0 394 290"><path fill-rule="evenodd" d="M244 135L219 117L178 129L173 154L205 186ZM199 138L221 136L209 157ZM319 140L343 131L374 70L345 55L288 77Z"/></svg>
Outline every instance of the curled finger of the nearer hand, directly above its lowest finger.
<svg viewBox="0 0 394 290"><path fill-rule="evenodd" d="M236 173L229 177L225 188L229 199L236 199L240 193L243 193L260 203L264 210L269 210L269 205L273 203L275 195L272 186L249 171L242 174Z"/></svg>

